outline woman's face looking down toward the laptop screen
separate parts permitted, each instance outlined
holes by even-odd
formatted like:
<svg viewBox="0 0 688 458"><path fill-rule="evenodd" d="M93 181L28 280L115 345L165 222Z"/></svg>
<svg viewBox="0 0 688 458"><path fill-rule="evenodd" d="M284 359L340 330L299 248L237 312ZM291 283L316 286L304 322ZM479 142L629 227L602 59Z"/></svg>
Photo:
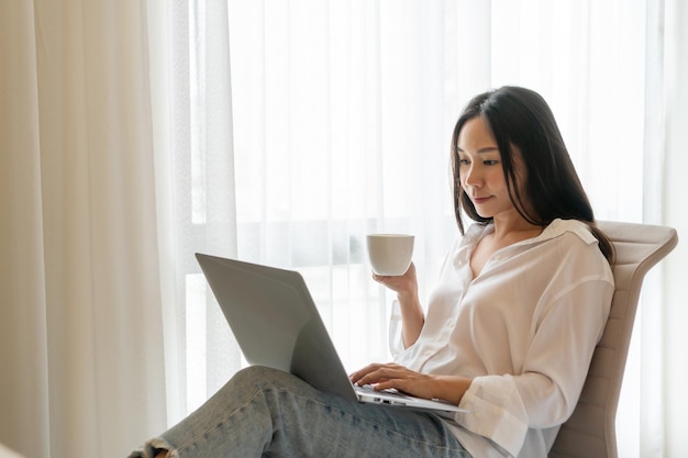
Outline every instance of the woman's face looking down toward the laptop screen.
<svg viewBox="0 0 688 458"><path fill-rule="evenodd" d="M520 217L509 198L501 154L487 121L481 116L468 120L458 133L456 146L460 186L478 214Z"/></svg>

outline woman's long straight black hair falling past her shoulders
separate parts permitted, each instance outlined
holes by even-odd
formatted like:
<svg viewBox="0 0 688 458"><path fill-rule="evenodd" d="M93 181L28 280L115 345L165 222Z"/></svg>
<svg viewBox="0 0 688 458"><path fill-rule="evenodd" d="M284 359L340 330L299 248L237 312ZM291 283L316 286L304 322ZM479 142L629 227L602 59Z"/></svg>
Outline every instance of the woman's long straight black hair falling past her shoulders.
<svg viewBox="0 0 688 458"><path fill-rule="evenodd" d="M529 223L546 226L555 219L579 220L590 226L604 257L613 260L613 246L597 227L590 201L568 155L564 138L547 102L537 92L504 86L476 96L464 109L452 135L453 201L456 223L464 233L462 212L487 224L460 186L458 135L467 121L480 116L489 125L501 155L509 197ZM520 153L526 177L517 186L514 149ZM521 196L520 189L525 196Z"/></svg>

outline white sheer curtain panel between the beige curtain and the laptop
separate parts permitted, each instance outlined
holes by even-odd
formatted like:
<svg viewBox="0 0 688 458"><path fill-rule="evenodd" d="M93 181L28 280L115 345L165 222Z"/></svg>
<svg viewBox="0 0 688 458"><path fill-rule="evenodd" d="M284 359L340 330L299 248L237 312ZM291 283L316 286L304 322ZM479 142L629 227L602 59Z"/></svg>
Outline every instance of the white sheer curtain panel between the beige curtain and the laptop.
<svg viewBox="0 0 688 458"><path fill-rule="evenodd" d="M168 423L241 365L193 254L236 256L226 2L146 2Z"/></svg>

